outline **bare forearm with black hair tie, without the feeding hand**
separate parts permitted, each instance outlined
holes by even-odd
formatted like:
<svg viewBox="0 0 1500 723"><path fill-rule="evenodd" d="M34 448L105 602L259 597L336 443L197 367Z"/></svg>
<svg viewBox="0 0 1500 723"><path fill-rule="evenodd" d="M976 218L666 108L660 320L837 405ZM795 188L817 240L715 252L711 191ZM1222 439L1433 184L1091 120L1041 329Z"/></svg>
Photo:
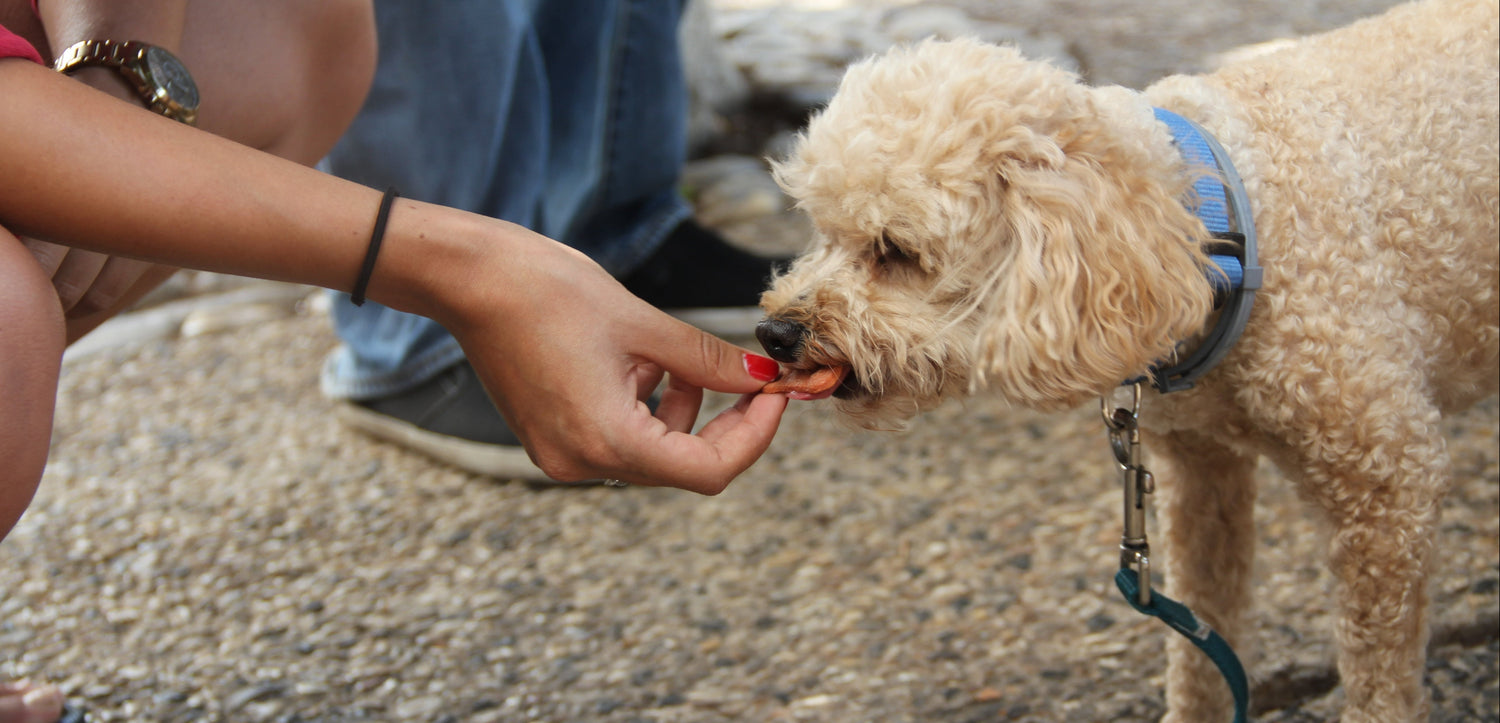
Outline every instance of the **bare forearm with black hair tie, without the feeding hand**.
<svg viewBox="0 0 1500 723"><path fill-rule="evenodd" d="M352 285L378 190L184 128L26 62L0 62L0 225L10 231L171 266ZM478 220L404 202L376 280L406 280L372 284L370 297L434 314L424 285L441 273L424 267L453 260L472 237L442 225Z"/></svg>

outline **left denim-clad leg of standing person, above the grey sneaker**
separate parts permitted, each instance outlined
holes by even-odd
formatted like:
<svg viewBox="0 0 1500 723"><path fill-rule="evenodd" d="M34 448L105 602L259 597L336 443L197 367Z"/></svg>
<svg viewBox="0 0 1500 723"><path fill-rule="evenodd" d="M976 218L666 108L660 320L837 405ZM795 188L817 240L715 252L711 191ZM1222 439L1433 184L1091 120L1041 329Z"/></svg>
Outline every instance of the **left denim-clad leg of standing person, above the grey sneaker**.
<svg viewBox="0 0 1500 723"><path fill-rule="evenodd" d="M376 33L369 100L322 168L536 226L549 114L530 3L380 2ZM408 390L464 357L436 322L375 303L336 302L333 326L344 345L322 386L340 399Z"/></svg>

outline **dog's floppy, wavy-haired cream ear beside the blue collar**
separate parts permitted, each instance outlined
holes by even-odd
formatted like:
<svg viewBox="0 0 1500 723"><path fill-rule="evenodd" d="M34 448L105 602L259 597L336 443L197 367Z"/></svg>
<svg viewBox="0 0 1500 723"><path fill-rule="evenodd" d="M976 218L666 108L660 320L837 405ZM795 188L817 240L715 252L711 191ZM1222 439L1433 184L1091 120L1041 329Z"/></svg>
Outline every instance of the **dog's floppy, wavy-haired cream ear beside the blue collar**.
<svg viewBox="0 0 1500 723"><path fill-rule="evenodd" d="M1212 309L1180 168L1100 140L1059 132L996 164L1005 238L975 386L1017 404L1088 402L1167 358Z"/></svg>

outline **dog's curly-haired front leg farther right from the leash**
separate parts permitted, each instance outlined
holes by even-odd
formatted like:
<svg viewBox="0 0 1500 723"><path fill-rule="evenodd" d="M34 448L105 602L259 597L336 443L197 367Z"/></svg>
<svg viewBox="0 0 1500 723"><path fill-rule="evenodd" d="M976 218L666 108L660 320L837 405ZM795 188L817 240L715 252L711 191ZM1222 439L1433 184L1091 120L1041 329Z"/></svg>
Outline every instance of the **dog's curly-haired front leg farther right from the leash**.
<svg viewBox="0 0 1500 723"><path fill-rule="evenodd" d="M1449 458L1432 405L1386 394L1348 428L1305 430L1300 470L1282 466L1334 526L1344 723L1428 717L1426 585Z"/></svg>

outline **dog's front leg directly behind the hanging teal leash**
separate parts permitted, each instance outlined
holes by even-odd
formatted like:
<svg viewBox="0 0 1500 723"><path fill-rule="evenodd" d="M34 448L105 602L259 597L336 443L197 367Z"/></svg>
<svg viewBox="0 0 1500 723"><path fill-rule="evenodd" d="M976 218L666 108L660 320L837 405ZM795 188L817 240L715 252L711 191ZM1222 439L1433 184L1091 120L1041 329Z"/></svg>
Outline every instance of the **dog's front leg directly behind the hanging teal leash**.
<svg viewBox="0 0 1500 723"><path fill-rule="evenodd" d="M1239 650L1256 550L1256 459L1192 432L1150 436L1148 447L1168 592ZM1167 644L1167 711L1170 723L1233 716L1218 668L1178 634Z"/></svg>

